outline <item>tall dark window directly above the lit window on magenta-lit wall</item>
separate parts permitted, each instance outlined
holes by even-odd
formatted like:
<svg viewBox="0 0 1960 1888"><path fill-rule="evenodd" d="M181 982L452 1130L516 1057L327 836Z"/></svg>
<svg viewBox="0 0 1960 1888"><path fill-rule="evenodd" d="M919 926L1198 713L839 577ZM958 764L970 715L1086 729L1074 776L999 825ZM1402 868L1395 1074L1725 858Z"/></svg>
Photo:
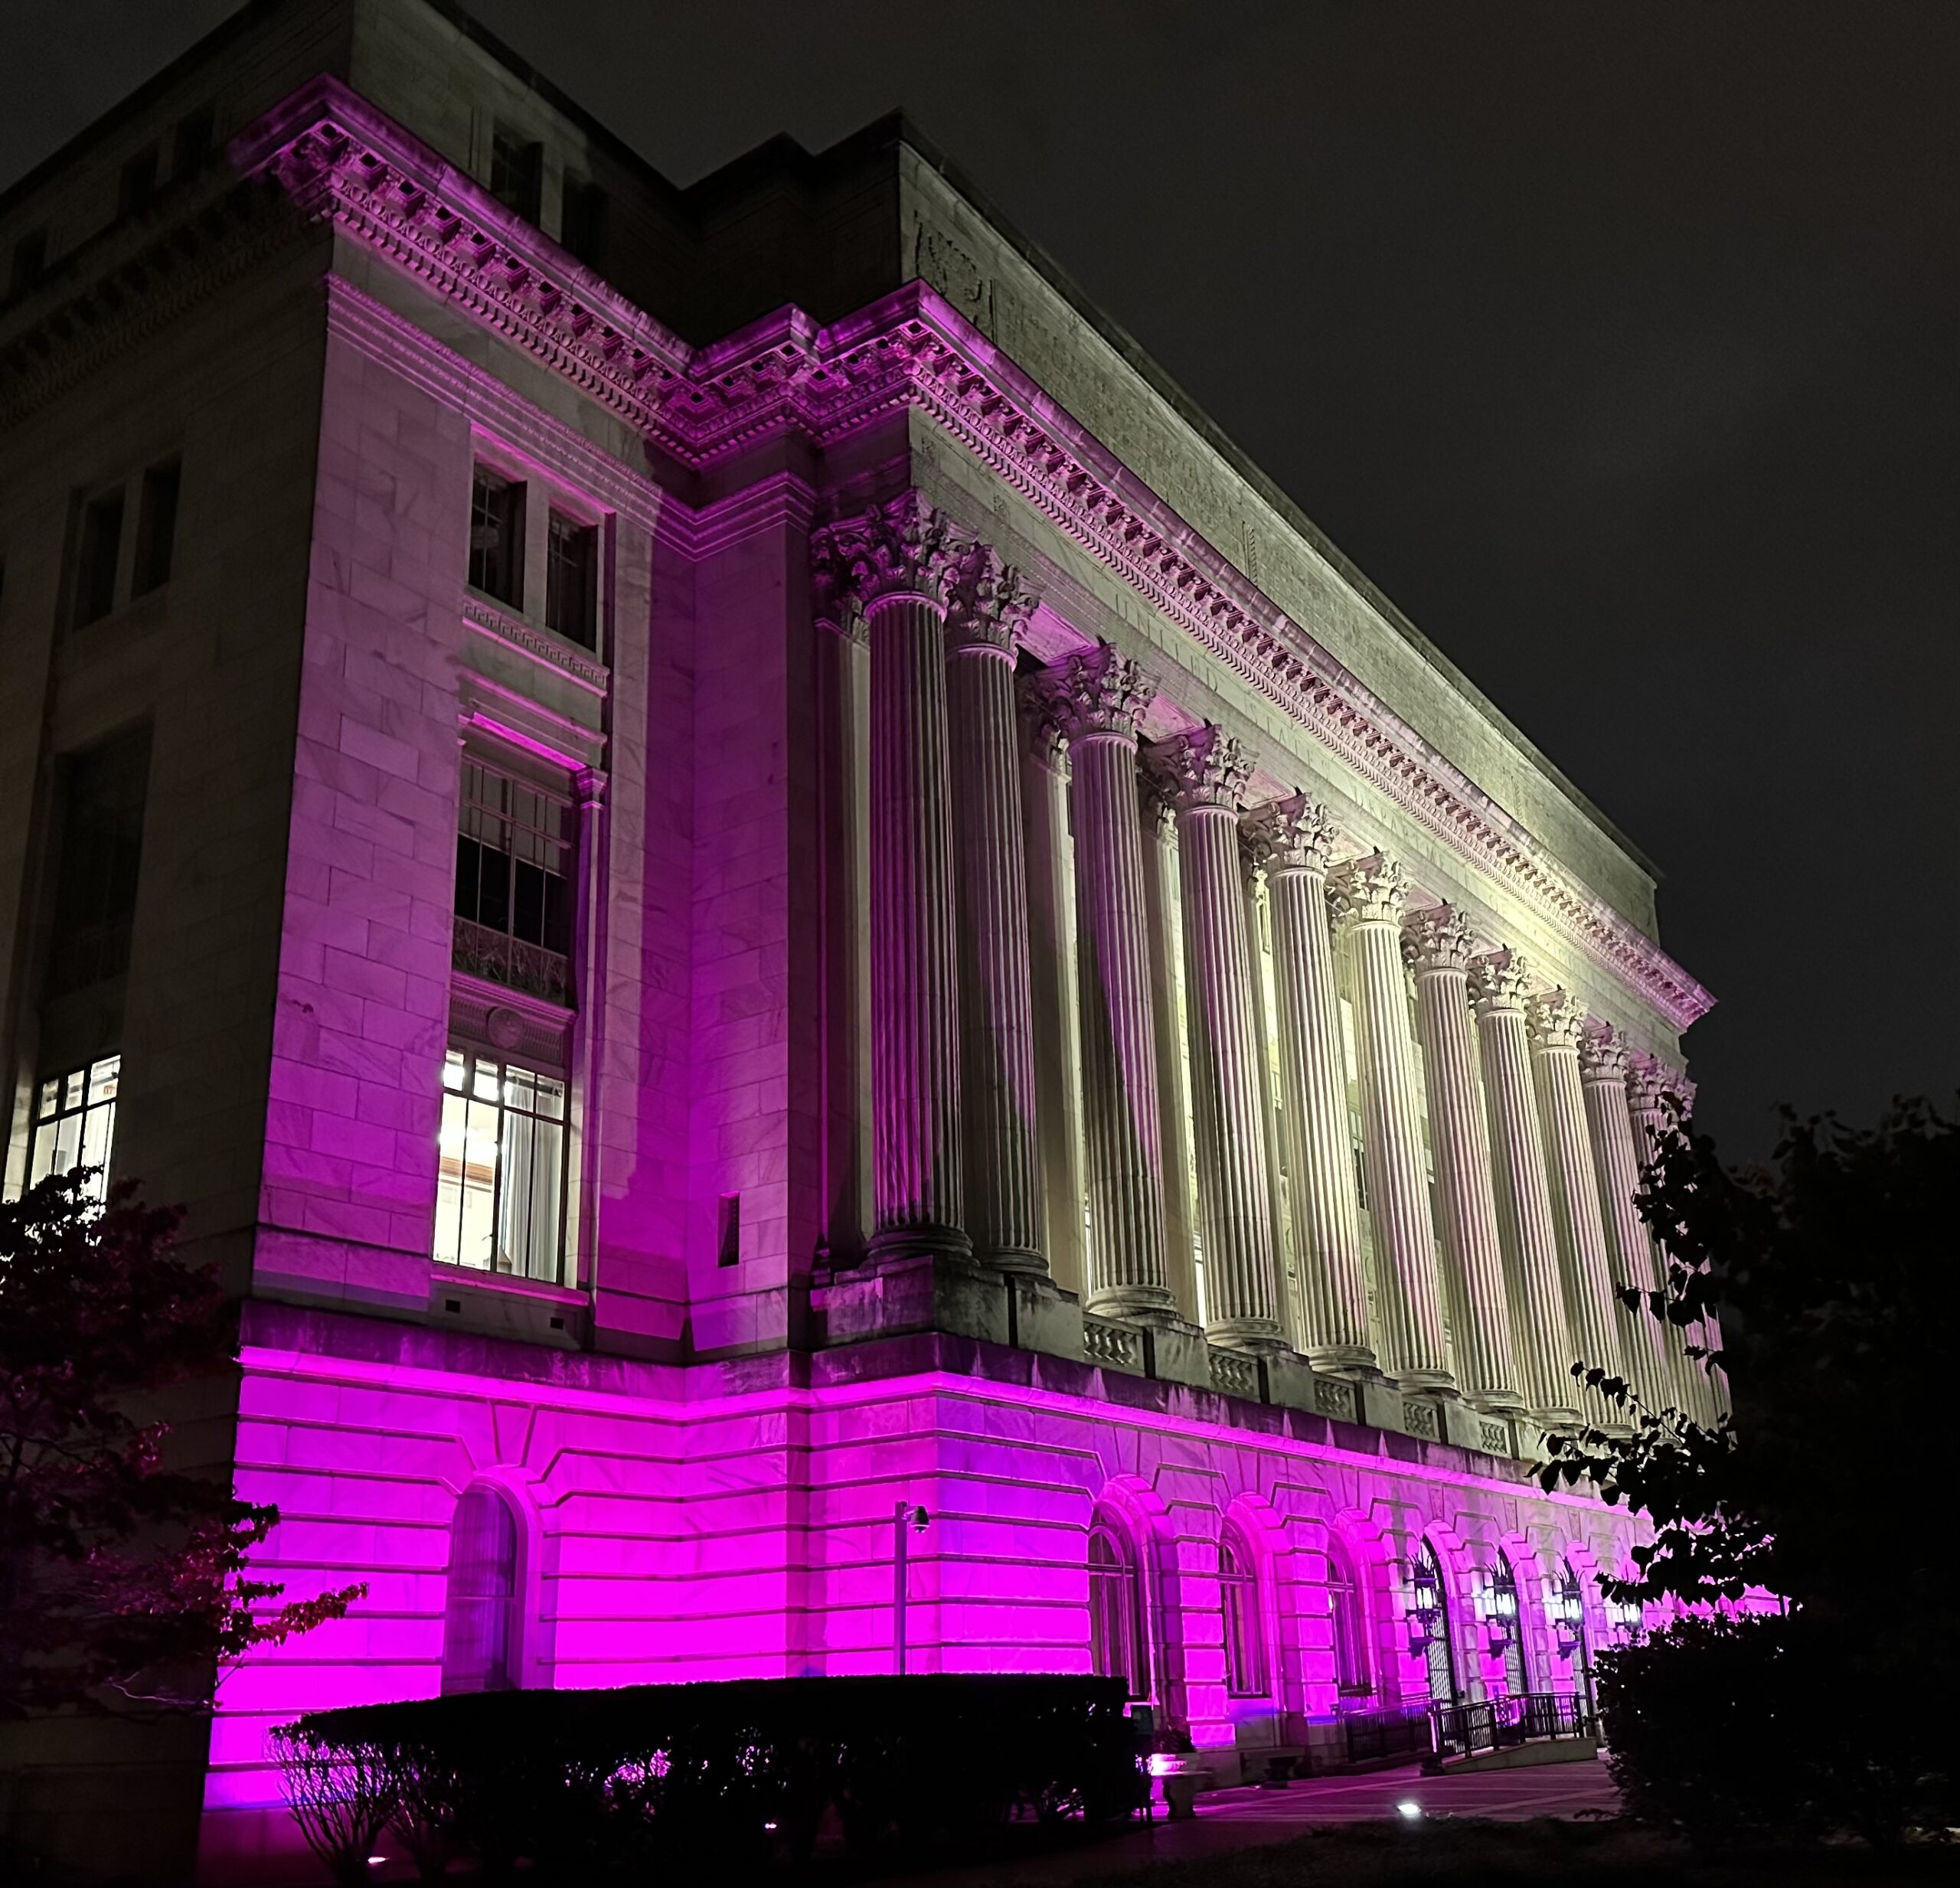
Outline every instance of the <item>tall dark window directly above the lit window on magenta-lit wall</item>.
<svg viewBox="0 0 1960 1888"><path fill-rule="evenodd" d="M574 833L568 800L465 757L459 970L570 1006Z"/></svg>

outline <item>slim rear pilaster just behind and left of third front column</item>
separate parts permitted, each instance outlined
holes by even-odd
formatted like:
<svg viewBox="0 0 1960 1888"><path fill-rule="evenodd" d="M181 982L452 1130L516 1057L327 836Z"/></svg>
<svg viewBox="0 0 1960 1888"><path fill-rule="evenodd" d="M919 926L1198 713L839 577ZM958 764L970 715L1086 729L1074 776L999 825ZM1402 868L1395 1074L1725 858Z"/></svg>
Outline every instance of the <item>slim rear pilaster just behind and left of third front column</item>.
<svg viewBox="0 0 1960 1888"><path fill-rule="evenodd" d="M1039 678L1035 678L1039 680ZM1021 706L1021 814L1027 831L1029 986L1035 1016L1035 1129L1049 1270L1086 1284L1082 1249L1082 1031L1076 1023L1076 865L1068 837L1068 739L1029 678Z"/></svg>

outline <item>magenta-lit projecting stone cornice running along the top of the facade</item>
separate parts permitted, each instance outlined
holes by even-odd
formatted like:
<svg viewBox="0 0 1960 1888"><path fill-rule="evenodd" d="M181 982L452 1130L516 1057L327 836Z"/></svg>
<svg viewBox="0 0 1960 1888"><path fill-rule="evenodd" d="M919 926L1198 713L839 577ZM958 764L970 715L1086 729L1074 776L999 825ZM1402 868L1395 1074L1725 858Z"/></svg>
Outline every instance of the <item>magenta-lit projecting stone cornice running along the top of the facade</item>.
<svg viewBox="0 0 1960 1888"><path fill-rule="evenodd" d="M333 222L523 347L672 459L704 467L780 429L827 447L917 410L1386 800L1505 884L1686 1029L1713 996L1558 865L925 282L819 327L798 310L704 349L582 269L331 78L239 137ZM1386 633L1396 633L1390 625Z"/></svg>

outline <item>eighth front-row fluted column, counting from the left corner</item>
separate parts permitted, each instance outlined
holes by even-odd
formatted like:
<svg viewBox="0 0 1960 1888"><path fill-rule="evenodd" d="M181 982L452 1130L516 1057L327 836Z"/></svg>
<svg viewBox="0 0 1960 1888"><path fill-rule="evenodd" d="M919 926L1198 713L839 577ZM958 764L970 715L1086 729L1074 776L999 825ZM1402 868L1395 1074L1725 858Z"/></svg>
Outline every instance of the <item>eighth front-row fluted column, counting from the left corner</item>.
<svg viewBox="0 0 1960 1888"><path fill-rule="evenodd" d="M1531 1037L1525 1002L1531 969L1517 951L1499 951L1470 967L1476 1000L1478 1059L1490 1110L1492 1174L1497 1182L1497 1231L1511 1290L1511 1343L1519 1388L1533 1419L1570 1429L1580 1419L1578 1357L1558 1274L1558 1229L1544 1165L1544 1129L1531 1080Z"/></svg>

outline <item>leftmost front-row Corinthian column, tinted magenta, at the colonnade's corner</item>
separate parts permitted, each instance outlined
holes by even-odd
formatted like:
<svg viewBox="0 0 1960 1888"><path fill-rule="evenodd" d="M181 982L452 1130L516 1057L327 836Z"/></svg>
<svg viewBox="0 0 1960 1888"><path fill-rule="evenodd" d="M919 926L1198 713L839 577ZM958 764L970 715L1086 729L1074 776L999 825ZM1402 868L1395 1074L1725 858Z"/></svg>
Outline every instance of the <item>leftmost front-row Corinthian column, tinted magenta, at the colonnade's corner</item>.
<svg viewBox="0 0 1960 1888"><path fill-rule="evenodd" d="M906 492L833 525L819 555L870 635L874 1259L966 1253L958 951L947 790L951 527Z"/></svg>

